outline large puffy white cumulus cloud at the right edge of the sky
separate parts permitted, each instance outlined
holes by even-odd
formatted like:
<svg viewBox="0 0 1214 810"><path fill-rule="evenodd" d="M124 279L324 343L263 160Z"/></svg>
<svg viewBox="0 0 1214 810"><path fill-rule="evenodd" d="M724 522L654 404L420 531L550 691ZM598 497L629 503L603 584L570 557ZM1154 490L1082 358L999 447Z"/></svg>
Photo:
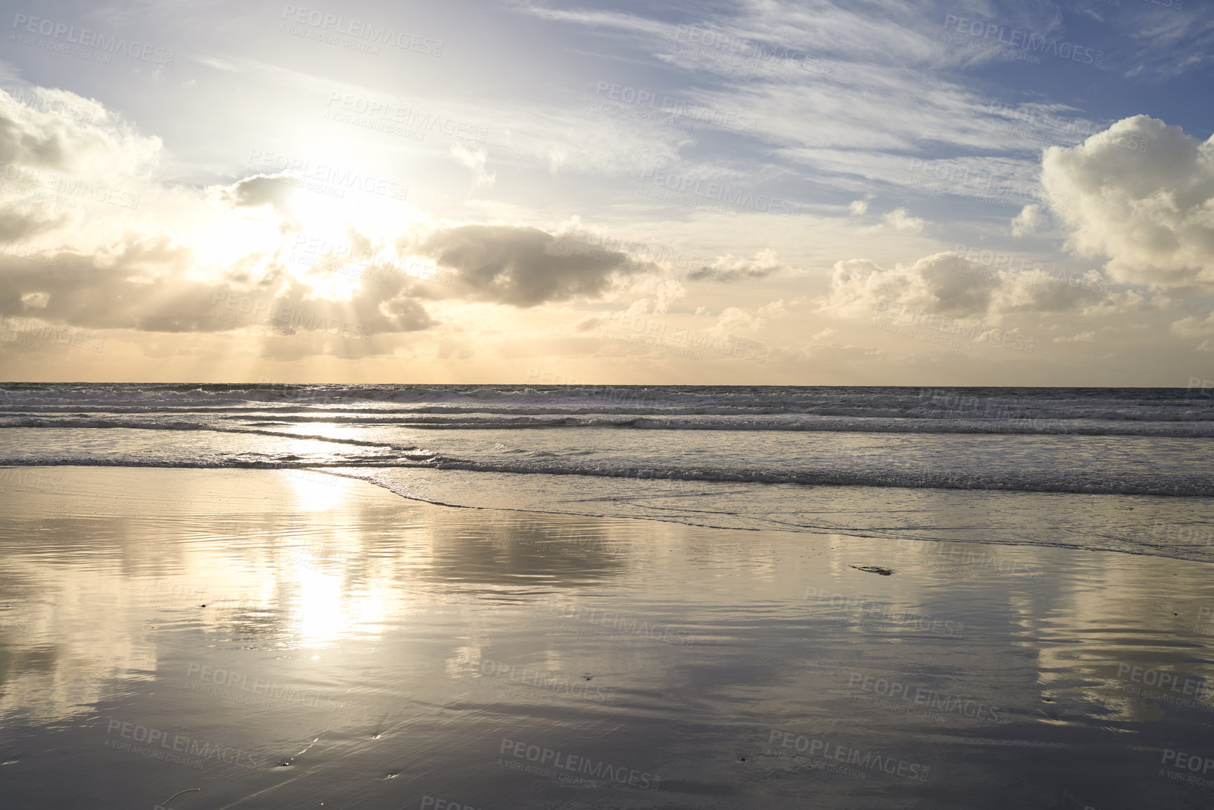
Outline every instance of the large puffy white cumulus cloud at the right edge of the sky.
<svg viewBox="0 0 1214 810"><path fill-rule="evenodd" d="M1147 115L1074 148L1050 147L1042 183L1068 248L1107 256L1119 282L1214 285L1214 137L1204 143Z"/></svg>

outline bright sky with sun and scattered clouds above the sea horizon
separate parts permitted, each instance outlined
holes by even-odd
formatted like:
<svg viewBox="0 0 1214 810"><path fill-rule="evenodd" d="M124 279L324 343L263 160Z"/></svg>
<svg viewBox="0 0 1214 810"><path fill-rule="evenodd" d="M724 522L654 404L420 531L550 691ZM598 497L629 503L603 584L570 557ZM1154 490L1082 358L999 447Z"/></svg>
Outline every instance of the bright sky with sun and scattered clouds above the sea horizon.
<svg viewBox="0 0 1214 810"><path fill-rule="evenodd" d="M5 13L4 380L1214 386L1207 2Z"/></svg>

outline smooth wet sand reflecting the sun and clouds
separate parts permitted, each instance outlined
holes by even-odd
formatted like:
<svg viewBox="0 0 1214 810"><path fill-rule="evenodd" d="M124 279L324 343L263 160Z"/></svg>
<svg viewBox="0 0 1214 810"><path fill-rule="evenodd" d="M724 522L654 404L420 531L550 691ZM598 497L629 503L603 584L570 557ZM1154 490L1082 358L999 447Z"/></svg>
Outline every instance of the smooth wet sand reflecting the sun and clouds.
<svg viewBox="0 0 1214 810"><path fill-rule="evenodd" d="M36 472L6 809L1214 805L1207 563Z"/></svg>

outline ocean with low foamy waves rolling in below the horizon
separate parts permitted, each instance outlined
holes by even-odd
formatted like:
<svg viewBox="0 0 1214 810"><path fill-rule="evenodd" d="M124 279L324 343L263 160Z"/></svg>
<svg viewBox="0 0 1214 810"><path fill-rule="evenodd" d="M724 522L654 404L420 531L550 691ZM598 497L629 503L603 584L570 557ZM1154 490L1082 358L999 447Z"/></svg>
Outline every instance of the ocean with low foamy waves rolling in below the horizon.
<svg viewBox="0 0 1214 810"><path fill-rule="evenodd" d="M0 465L291 469L453 506L1214 561L1203 393L7 384Z"/></svg>

